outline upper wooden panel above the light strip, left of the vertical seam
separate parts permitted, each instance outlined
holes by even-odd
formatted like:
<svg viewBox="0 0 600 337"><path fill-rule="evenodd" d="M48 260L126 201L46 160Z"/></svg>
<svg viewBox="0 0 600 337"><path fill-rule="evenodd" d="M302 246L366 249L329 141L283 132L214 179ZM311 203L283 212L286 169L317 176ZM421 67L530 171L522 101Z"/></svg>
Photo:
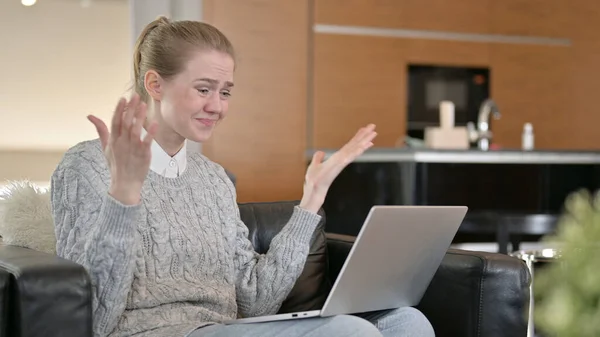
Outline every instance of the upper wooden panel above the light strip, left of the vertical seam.
<svg viewBox="0 0 600 337"><path fill-rule="evenodd" d="M348 26L489 31L493 0L316 0L315 22Z"/></svg>

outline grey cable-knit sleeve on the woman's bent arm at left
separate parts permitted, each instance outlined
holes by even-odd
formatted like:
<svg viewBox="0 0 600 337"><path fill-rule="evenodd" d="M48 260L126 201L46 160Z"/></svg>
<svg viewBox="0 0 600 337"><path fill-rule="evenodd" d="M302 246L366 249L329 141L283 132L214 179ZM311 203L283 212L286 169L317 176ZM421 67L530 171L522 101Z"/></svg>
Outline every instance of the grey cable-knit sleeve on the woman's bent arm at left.
<svg viewBox="0 0 600 337"><path fill-rule="evenodd" d="M72 166L72 165L71 165ZM93 184L84 167L59 166L51 180L57 254L81 264L93 287L94 336L107 336L125 310L133 281L135 220L125 206Z"/></svg>

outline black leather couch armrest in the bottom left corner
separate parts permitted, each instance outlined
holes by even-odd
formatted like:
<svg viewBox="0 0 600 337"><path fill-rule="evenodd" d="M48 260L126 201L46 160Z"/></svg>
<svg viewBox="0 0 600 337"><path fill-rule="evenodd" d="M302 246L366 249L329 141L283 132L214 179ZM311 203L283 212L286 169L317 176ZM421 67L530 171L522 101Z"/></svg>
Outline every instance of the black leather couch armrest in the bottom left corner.
<svg viewBox="0 0 600 337"><path fill-rule="evenodd" d="M9 336L92 336L92 287L73 262L28 248L0 244L0 271L8 272ZM4 325L3 322L2 324Z"/></svg>

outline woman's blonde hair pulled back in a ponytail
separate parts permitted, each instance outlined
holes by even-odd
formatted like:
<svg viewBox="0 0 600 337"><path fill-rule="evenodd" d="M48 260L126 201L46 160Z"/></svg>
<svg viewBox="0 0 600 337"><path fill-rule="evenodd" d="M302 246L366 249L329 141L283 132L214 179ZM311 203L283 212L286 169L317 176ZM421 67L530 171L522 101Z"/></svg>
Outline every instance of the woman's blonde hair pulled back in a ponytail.
<svg viewBox="0 0 600 337"><path fill-rule="evenodd" d="M194 50L215 50L235 60L233 46L217 28L199 21L170 21L164 16L150 22L137 39L133 54L134 90L142 100L149 96L144 86L148 70L169 79L180 73Z"/></svg>

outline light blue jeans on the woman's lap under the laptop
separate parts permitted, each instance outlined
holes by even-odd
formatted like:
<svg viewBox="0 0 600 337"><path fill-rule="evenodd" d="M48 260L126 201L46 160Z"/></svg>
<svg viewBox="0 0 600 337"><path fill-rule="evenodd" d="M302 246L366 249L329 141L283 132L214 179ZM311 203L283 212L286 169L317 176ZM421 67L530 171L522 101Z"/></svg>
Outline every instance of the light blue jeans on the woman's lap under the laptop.
<svg viewBox="0 0 600 337"><path fill-rule="evenodd" d="M307 318L268 323L211 325L189 337L435 337L433 327L415 308L359 315Z"/></svg>

